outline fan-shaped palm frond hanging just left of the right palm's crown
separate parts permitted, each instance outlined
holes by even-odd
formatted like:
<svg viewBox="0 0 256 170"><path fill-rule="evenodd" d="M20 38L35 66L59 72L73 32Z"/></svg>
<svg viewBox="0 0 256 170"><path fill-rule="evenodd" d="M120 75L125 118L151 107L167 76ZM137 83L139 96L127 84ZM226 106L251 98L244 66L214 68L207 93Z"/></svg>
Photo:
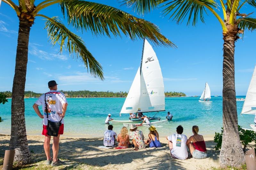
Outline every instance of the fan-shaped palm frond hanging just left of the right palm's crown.
<svg viewBox="0 0 256 170"><path fill-rule="evenodd" d="M214 12L213 8L217 8L218 5L214 0L172 0L167 4L164 4L164 15L168 15L172 12L170 18L176 20L179 24L187 17L187 25L190 24L191 19L192 25L195 26L197 23L198 14L200 20L204 23L204 13L207 14L206 9Z"/></svg>

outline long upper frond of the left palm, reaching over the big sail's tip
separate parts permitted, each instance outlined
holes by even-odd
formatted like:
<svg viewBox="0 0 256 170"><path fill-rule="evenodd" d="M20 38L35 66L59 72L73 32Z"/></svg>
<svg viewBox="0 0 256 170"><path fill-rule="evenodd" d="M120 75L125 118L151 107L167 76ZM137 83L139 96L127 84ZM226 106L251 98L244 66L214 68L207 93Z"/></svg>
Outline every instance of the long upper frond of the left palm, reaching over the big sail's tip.
<svg viewBox="0 0 256 170"><path fill-rule="evenodd" d="M120 36L132 40L147 38L156 45L176 47L159 28L144 19L136 18L108 5L82 0L63 0L61 10L68 24L77 30L91 30L94 35Z"/></svg>

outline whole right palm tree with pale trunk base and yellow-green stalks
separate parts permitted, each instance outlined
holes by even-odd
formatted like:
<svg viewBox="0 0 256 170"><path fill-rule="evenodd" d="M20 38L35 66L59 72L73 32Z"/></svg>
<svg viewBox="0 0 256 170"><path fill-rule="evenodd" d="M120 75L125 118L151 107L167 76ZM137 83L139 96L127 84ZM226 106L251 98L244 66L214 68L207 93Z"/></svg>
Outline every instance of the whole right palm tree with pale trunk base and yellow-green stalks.
<svg viewBox="0 0 256 170"><path fill-rule="evenodd" d="M187 25L195 26L198 18L204 23L204 14L209 10L219 21L223 30L223 137L220 152L220 166L241 166L244 163L244 152L240 144L237 124L236 91L235 91L235 42L238 34L244 30L256 29L256 18L252 13L240 13L244 4L256 7L255 0L124 0L140 14L149 12L159 5L163 7L164 16L168 15L177 23L187 19ZM223 19L217 10L221 8ZM248 11L249 12L249 11Z"/></svg>

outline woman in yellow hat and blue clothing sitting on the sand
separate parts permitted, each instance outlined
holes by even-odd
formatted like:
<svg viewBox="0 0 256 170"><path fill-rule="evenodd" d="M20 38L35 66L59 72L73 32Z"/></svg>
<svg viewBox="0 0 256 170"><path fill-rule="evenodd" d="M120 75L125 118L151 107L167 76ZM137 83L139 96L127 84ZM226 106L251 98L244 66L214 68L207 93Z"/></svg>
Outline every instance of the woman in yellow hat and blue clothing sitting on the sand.
<svg viewBox="0 0 256 170"><path fill-rule="evenodd" d="M160 148L162 147L161 143L159 142L159 134L156 131L155 126L150 126L148 128L149 134L148 134L148 140L146 141L146 144L149 145L150 148Z"/></svg>

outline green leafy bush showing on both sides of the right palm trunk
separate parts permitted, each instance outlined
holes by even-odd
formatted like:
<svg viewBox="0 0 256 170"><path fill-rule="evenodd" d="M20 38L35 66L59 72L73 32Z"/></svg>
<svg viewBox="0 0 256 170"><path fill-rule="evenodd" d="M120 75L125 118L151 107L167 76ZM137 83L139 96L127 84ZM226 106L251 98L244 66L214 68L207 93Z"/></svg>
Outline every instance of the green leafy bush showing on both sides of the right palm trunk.
<svg viewBox="0 0 256 170"><path fill-rule="evenodd" d="M215 150L221 149L221 143L222 143L222 134L223 134L223 128L221 128L221 133L215 132L214 136L214 142L217 143L216 146L214 146ZM241 144L244 145L243 151L245 152L246 148L256 148L256 132L253 130L245 130L242 128L242 126L238 125L238 132Z"/></svg>

